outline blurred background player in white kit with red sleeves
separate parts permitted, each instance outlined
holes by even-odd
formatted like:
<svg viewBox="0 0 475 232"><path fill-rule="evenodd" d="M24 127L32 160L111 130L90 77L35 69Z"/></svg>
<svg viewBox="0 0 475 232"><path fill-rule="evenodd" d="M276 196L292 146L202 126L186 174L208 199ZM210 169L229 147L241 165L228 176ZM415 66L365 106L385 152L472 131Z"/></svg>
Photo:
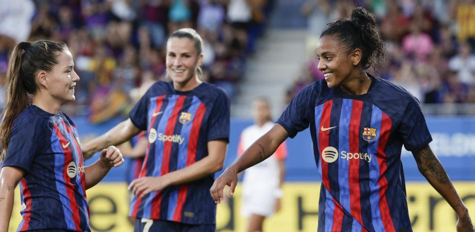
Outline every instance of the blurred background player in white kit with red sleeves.
<svg viewBox="0 0 475 232"><path fill-rule="evenodd" d="M237 155L242 155L274 126L271 106L265 98L254 100L253 116L256 124L247 127L241 133ZM262 232L264 220L280 210L284 194L281 188L284 182L286 157L287 147L284 141L269 159L246 170L241 211L244 217L249 218L248 232Z"/></svg>

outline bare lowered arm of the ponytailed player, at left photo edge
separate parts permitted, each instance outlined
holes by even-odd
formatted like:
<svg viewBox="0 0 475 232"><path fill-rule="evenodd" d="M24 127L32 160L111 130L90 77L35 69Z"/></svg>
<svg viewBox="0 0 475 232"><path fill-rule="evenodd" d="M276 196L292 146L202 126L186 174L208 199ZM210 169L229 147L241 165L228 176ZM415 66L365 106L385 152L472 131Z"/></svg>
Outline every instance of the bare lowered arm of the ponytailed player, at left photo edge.
<svg viewBox="0 0 475 232"><path fill-rule="evenodd" d="M0 171L0 232L8 232L15 187L24 175L21 169L15 167L3 167Z"/></svg>

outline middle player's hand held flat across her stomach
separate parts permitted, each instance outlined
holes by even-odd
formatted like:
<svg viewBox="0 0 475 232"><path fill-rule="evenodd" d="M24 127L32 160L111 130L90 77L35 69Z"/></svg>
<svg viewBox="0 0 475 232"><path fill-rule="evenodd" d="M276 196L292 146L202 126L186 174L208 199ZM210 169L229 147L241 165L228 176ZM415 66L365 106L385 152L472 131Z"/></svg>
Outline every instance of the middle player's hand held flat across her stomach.
<svg viewBox="0 0 475 232"><path fill-rule="evenodd" d="M166 184L166 176L142 177L132 181L128 187L128 190L132 191L134 195L141 198L151 192L160 191L167 186L168 184Z"/></svg>

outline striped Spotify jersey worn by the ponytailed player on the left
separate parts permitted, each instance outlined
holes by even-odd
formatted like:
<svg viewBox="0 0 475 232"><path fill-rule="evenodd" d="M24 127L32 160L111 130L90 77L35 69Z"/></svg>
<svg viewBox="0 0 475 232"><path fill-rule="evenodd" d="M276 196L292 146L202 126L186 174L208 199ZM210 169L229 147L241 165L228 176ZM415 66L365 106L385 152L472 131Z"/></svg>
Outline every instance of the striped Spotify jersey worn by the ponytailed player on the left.
<svg viewBox="0 0 475 232"><path fill-rule="evenodd" d="M22 169L18 231L88 232L84 164L74 123L32 105L15 119L2 167Z"/></svg>

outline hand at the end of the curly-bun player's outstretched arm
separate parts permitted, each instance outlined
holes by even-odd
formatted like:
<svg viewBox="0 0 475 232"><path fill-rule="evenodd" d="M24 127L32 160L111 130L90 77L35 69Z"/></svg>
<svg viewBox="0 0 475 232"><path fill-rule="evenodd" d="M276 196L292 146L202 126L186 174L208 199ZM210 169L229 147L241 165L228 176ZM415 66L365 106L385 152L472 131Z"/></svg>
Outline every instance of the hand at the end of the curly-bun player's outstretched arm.
<svg viewBox="0 0 475 232"><path fill-rule="evenodd" d="M214 203L221 203L223 199L222 190L226 185L229 186L229 196L232 196L237 185L237 170L232 167L227 167L226 170L224 170L224 172L214 181L211 189L209 189Z"/></svg>

